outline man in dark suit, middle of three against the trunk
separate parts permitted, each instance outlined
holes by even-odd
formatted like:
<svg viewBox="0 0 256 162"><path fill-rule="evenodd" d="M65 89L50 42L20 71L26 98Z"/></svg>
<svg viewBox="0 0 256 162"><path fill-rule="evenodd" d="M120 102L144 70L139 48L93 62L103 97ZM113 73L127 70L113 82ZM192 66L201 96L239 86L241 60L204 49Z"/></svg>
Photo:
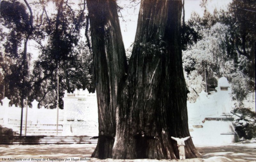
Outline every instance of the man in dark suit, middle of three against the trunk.
<svg viewBox="0 0 256 162"><path fill-rule="evenodd" d="M145 135L145 131L142 130L137 135L134 135L134 138L137 139L137 158L147 158L146 152L148 148L148 139L158 139L154 136Z"/></svg>

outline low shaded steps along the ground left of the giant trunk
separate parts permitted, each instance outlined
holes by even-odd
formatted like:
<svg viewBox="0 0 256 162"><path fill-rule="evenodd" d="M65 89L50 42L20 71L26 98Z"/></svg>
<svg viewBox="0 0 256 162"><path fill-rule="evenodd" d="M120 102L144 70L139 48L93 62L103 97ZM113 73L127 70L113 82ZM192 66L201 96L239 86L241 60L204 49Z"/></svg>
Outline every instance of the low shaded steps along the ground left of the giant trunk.
<svg viewBox="0 0 256 162"><path fill-rule="evenodd" d="M98 139L90 139L92 136L54 136L54 135L28 135L28 136L13 136L0 135L0 145L10 144L84 144L97 143Z"/></svg>

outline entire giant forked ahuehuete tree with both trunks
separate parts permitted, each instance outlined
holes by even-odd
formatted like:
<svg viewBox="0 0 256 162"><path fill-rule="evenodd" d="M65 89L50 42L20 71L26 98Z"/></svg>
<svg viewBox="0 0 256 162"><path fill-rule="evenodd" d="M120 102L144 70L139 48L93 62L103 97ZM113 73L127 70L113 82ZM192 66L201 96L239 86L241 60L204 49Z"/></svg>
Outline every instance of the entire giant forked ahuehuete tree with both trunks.
<svg viewBox="0 0 256 162"><path fill-rule="evenodd" d="M171 136L189 136L187 87L181 57L181 1L141 1L127 67L116 1L87 0L99 129L115 136L105 158L134 159L134 135L145 129L159 137L148 144L150 159L176 159ZM99 157L98 145L92 157ZM192 140L186 158L202 157Z"/></svg>

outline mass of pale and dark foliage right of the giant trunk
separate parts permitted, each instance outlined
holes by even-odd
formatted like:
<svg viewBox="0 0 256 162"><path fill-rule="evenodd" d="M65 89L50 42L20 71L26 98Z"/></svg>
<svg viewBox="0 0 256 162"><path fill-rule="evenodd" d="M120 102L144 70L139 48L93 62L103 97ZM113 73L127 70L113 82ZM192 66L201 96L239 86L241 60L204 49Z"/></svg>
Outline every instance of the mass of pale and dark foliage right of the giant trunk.
<svg viewBox="0 0 256 162"><path fill-rule="evenodd" d="M206 3L203 1L202 7L205 8ZM228 78L234 99L240 105L255 91L254 6L254 1L233 1L227 12L215 9L210 14L205 8L202 18L196 13L192 15L187 24L198 32L200 40L183 51L188 88L192 86L188 80L197 77L192 77L191 72L195 70L204 80L205 67L207 83L221 76ZM207 84L207 87L213 89L213 85ZM196 98L196 94L192 98Z"/></svg>

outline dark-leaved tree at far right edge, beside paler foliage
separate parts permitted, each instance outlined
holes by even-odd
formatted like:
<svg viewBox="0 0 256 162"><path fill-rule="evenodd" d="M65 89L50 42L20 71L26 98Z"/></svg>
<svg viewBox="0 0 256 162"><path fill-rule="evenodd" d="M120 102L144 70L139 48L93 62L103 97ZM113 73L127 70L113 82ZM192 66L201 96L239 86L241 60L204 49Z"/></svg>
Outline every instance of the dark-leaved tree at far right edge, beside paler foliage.
<svg viewBox="0 0 256 162"><path fill-rule="evenodd" d="M230 81L238 101L255 92L255 5L255 1L233 1L220 17L228 26L227 54L234 65Z"/></svg>

